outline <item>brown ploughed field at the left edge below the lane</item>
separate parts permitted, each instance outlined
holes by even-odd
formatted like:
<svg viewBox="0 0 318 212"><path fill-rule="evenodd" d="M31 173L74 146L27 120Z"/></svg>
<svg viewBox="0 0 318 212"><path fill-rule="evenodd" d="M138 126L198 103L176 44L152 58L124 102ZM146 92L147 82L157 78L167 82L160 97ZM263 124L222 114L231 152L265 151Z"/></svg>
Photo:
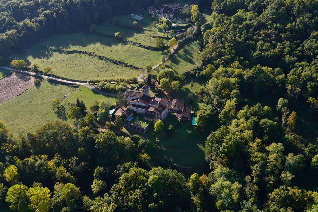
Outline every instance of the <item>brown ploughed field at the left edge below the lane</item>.
<svg viewBox="0 0 318 212"><path fill-rule="evenodd" d="M0 80L0 105L34 85L34 77L13 73Z"/></svg>

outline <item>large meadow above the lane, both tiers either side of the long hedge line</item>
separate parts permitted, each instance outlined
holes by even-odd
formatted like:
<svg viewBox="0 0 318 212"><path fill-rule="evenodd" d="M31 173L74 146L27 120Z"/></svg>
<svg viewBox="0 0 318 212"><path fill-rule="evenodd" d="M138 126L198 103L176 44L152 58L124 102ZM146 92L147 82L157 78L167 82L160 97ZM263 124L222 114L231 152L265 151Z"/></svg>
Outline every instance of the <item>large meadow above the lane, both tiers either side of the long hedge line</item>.
<svg viewBox="0 0 318 212"><path fill-rule="evenodd" d="M10 59L23 59L28 66L36 63L40 70L51 66L53 75L86 81L95 77L139 76L147 64L156 65L162 54L115 38L79 32L51 36Z"/></svg>

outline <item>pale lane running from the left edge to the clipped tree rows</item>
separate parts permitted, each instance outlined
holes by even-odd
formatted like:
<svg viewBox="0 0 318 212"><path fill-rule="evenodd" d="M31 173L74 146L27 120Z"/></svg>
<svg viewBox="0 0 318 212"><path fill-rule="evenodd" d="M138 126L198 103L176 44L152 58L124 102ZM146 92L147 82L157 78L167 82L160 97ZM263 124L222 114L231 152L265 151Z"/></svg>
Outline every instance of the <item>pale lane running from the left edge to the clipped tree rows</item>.
<svg viewBox="0 0 318 212"><path fill-rule="evenodd" d="M43 77L43 78L55 80L58 82L64 82L64 83L76 84L76 85L84 85L85 87L90 88L95 92L99 92L99 93L107 95L107 96L117 96L117 94L101 91L97 87L89 85L88 83L84 83L84 82L74 82L74 81L70 81L70 80L58 79L58 78L54 78L54 77L45 76L42 74L37 74L34 72L27 72L27 71L14 69L14 68L8 68L8 67L4 67L4 66L0 66L0 68L8 69L8 70L15 71L15 72L21 72L21 73L25 73L25 74L29 74L29 75L33 75L33 76Z"/></svg>

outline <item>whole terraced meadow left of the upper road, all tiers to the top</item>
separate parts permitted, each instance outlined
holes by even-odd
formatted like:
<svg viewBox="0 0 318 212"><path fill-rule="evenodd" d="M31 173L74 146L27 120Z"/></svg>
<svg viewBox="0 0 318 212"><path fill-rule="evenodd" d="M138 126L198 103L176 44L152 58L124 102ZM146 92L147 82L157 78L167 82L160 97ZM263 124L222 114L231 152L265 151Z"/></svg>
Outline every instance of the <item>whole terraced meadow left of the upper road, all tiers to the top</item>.
<svg viewBox="0 0 318 212"><path fill-rule="evenodd" d="M121 31L122 38L143 45L154 46L156 36L162 37L165 33L152 26L153 19L145 17L136 20L130 15L119 16L120 21L133 23L137 21L140 30L133 30L124 27L114 26L113 24L103 24L98 27L98 32L114 35ZM164 40L168 44L167 40ZM14 53L12 59L23 59L30 67L36 63L40 69L45 66L52 67L53 75L74 80L86 81L93 77L133 77L142 74L142 70L134 70L123 65L116 65L105 60L87 54L69 54L51 51L50 48L66 51L87 51L94 52L96 55L105 56L110 59L118 60L145 68L146 65L156 65L163 51L148 50L131 43L121 42L116 38L106 38L93 33L68 33L53 35L42 41L29 46L28 48Z"/></svg>

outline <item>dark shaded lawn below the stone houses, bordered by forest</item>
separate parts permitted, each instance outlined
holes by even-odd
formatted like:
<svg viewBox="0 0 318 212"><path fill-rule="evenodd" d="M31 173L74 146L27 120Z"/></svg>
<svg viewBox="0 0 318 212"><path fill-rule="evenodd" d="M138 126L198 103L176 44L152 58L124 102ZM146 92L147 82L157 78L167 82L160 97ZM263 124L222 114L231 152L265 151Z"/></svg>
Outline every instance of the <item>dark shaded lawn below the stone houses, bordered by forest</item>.
<svg viewBox="0 0 318 212"><path fill-rule="evenodd" d="M174 116L174 113L169 113L168 117L163 120L164 130L155 135L152 135L153 124L149 126L144 134L127 131L126 129L123 129L123 131L126 132L126 135L132 136L135 142L140 137L144 137L149 139L152 144L156 143L156 147L150 144L146 149L146 153L151 156L152 163L156 166L169 166L171 163L175 163L183 167L201 167L206 163L205 153L207 153L208 149L205 148L205 140L211 130L205 130L202 133L200 129L191 125L191 121L180 123L178 120L173 119ZM216 126L214 122L211 120L209 126ZM175 128L169 133L168 127L170 124ZM155 142L156 139L160 141ZM164 156L168 158L170 164L164 164L167 163Z"/></svg>

